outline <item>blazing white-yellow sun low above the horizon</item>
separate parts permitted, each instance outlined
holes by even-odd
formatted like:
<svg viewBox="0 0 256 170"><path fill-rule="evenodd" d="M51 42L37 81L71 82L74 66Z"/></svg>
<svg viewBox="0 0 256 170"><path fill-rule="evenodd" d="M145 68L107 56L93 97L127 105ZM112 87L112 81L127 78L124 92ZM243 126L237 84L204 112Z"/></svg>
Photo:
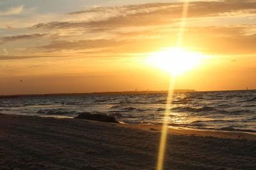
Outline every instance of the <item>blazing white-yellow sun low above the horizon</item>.
<svg viewBox="0 0 256 170"><path fill-rule="evenodd" d="M181 48L168 48L148 54L147 62L172 75L180 75L198 66L203 55Z"/></svg>

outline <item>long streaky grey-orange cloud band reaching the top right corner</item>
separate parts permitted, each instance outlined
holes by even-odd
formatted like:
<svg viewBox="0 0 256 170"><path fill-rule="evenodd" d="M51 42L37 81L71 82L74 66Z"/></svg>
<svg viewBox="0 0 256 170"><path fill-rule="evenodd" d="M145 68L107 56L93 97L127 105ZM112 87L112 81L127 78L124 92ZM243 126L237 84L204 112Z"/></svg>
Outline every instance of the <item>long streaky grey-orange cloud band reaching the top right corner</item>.
<svg viewBox="0 0 256 170"><path fill-rule="evenodd" d="M66 20L39 23L31 29L113 29L116 27L170 24L180 19L182 3L150 3L129 6L97 7L67 14ZM256 1L195 1L189 6L189 18L220 17L256 13ZM231 15L230 14L230 15Z"/></svg>

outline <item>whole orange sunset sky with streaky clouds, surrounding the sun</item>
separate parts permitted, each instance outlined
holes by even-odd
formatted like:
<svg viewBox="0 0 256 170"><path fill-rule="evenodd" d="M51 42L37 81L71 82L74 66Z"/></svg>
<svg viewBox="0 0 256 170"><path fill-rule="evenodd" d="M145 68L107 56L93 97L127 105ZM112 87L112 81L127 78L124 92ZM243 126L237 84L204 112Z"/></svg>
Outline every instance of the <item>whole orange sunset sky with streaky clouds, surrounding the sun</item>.
<svg viewBox="0 0 256 170"><path fill-rule="evenodd" d="M0 0L0 95L168 89L170 73L147 58L175 47L182 9L175 0ZM256 89L256 1L190 1L182 39L204 58L176 89Z"/></svg>

